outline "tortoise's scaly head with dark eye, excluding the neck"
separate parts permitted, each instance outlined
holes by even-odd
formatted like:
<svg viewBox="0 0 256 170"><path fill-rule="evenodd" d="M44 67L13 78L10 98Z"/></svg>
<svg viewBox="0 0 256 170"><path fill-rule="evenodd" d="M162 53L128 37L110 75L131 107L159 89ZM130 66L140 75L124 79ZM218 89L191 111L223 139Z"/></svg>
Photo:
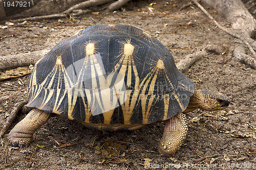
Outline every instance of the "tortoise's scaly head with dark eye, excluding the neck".
<svg viewBox="0 0 256 170"><path fill-rule="evenodd" d="M225 94L211 90L196 90L193 96L199 100L198 108L202 110L221 110L230 104L230 100Z"/></svg>

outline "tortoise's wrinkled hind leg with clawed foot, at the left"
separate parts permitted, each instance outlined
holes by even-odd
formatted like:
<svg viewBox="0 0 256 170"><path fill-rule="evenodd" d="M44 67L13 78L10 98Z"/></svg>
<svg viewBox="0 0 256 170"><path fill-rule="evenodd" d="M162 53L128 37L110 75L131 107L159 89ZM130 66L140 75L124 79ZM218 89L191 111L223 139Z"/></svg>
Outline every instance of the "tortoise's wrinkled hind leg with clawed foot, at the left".
<svg viewBox="0 0 256 170"><path fill-rule="evenodd" d="M9 133L8 138L13 147L28 147L34 132L46 124L51 113L39 109L31 110Z"/></svg>

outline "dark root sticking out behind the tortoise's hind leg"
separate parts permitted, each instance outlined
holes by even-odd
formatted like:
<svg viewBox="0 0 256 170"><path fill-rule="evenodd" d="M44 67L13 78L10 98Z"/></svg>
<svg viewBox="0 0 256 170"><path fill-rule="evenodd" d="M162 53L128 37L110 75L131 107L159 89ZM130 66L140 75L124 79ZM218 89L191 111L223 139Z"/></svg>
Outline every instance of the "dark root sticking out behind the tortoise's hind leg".
<svg viewBox="0 0 256 170"><path fill-rule="evenodd" d="M18 111L24 106L26 105L28 102L25 101L25 102L22 102L22 103L16 103L14 106L13 106L13 110L11 111L10 115L7 117L6 119L6 122L5 122L5 125L3 126L2 128L2 131L0 133L0 137L2 138L3 135L5 134L5 132L10 128L13 120L16 118L17 114L18 114Z"/></svg>

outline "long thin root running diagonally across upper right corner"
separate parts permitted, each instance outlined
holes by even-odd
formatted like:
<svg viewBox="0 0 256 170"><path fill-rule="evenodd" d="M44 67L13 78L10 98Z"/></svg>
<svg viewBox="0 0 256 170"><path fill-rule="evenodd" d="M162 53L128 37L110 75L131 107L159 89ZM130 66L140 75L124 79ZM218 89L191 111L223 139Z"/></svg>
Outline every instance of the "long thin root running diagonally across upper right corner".
<svg viewBox="0 0 256 170"><path fill-rule="evenodd" d="M198 6L198 8L200 8L204 12L205 15L207 15L215 23L215 25L219 29L221 29L225 33L231 35L232 37L241 39L245 43L245 45L249 48L252 56L254 58L256 58L256 53L254 52L253 48L251 47L251 45L248 43L248 41L244 37L242 37L242 36L240 36L240 35L238 35L236 33L232 33L231 31L228 31L227 29L221 27L221 25L219 25L219 23L204 9L204 7L202 7L196 0L192 0L192 1Z"/></svg>

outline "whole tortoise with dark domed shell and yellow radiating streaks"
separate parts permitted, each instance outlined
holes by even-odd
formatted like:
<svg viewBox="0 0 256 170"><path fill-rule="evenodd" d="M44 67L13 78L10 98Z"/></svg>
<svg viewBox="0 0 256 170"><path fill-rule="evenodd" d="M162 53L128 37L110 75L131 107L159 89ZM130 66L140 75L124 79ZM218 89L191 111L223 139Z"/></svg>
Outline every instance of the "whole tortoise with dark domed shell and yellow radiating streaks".
<svg viewBox="0 0 256 170"><path fill-rule="evenodd" d="M51 116L109 131L164 122L158 146L164 156L173 156L186 137L183 113L230 103L225 94L195 90L151 34L113 23L88 27L55 45L34 65L27 96L33 109L9 133L14 147L28 147Z"/></svg>

